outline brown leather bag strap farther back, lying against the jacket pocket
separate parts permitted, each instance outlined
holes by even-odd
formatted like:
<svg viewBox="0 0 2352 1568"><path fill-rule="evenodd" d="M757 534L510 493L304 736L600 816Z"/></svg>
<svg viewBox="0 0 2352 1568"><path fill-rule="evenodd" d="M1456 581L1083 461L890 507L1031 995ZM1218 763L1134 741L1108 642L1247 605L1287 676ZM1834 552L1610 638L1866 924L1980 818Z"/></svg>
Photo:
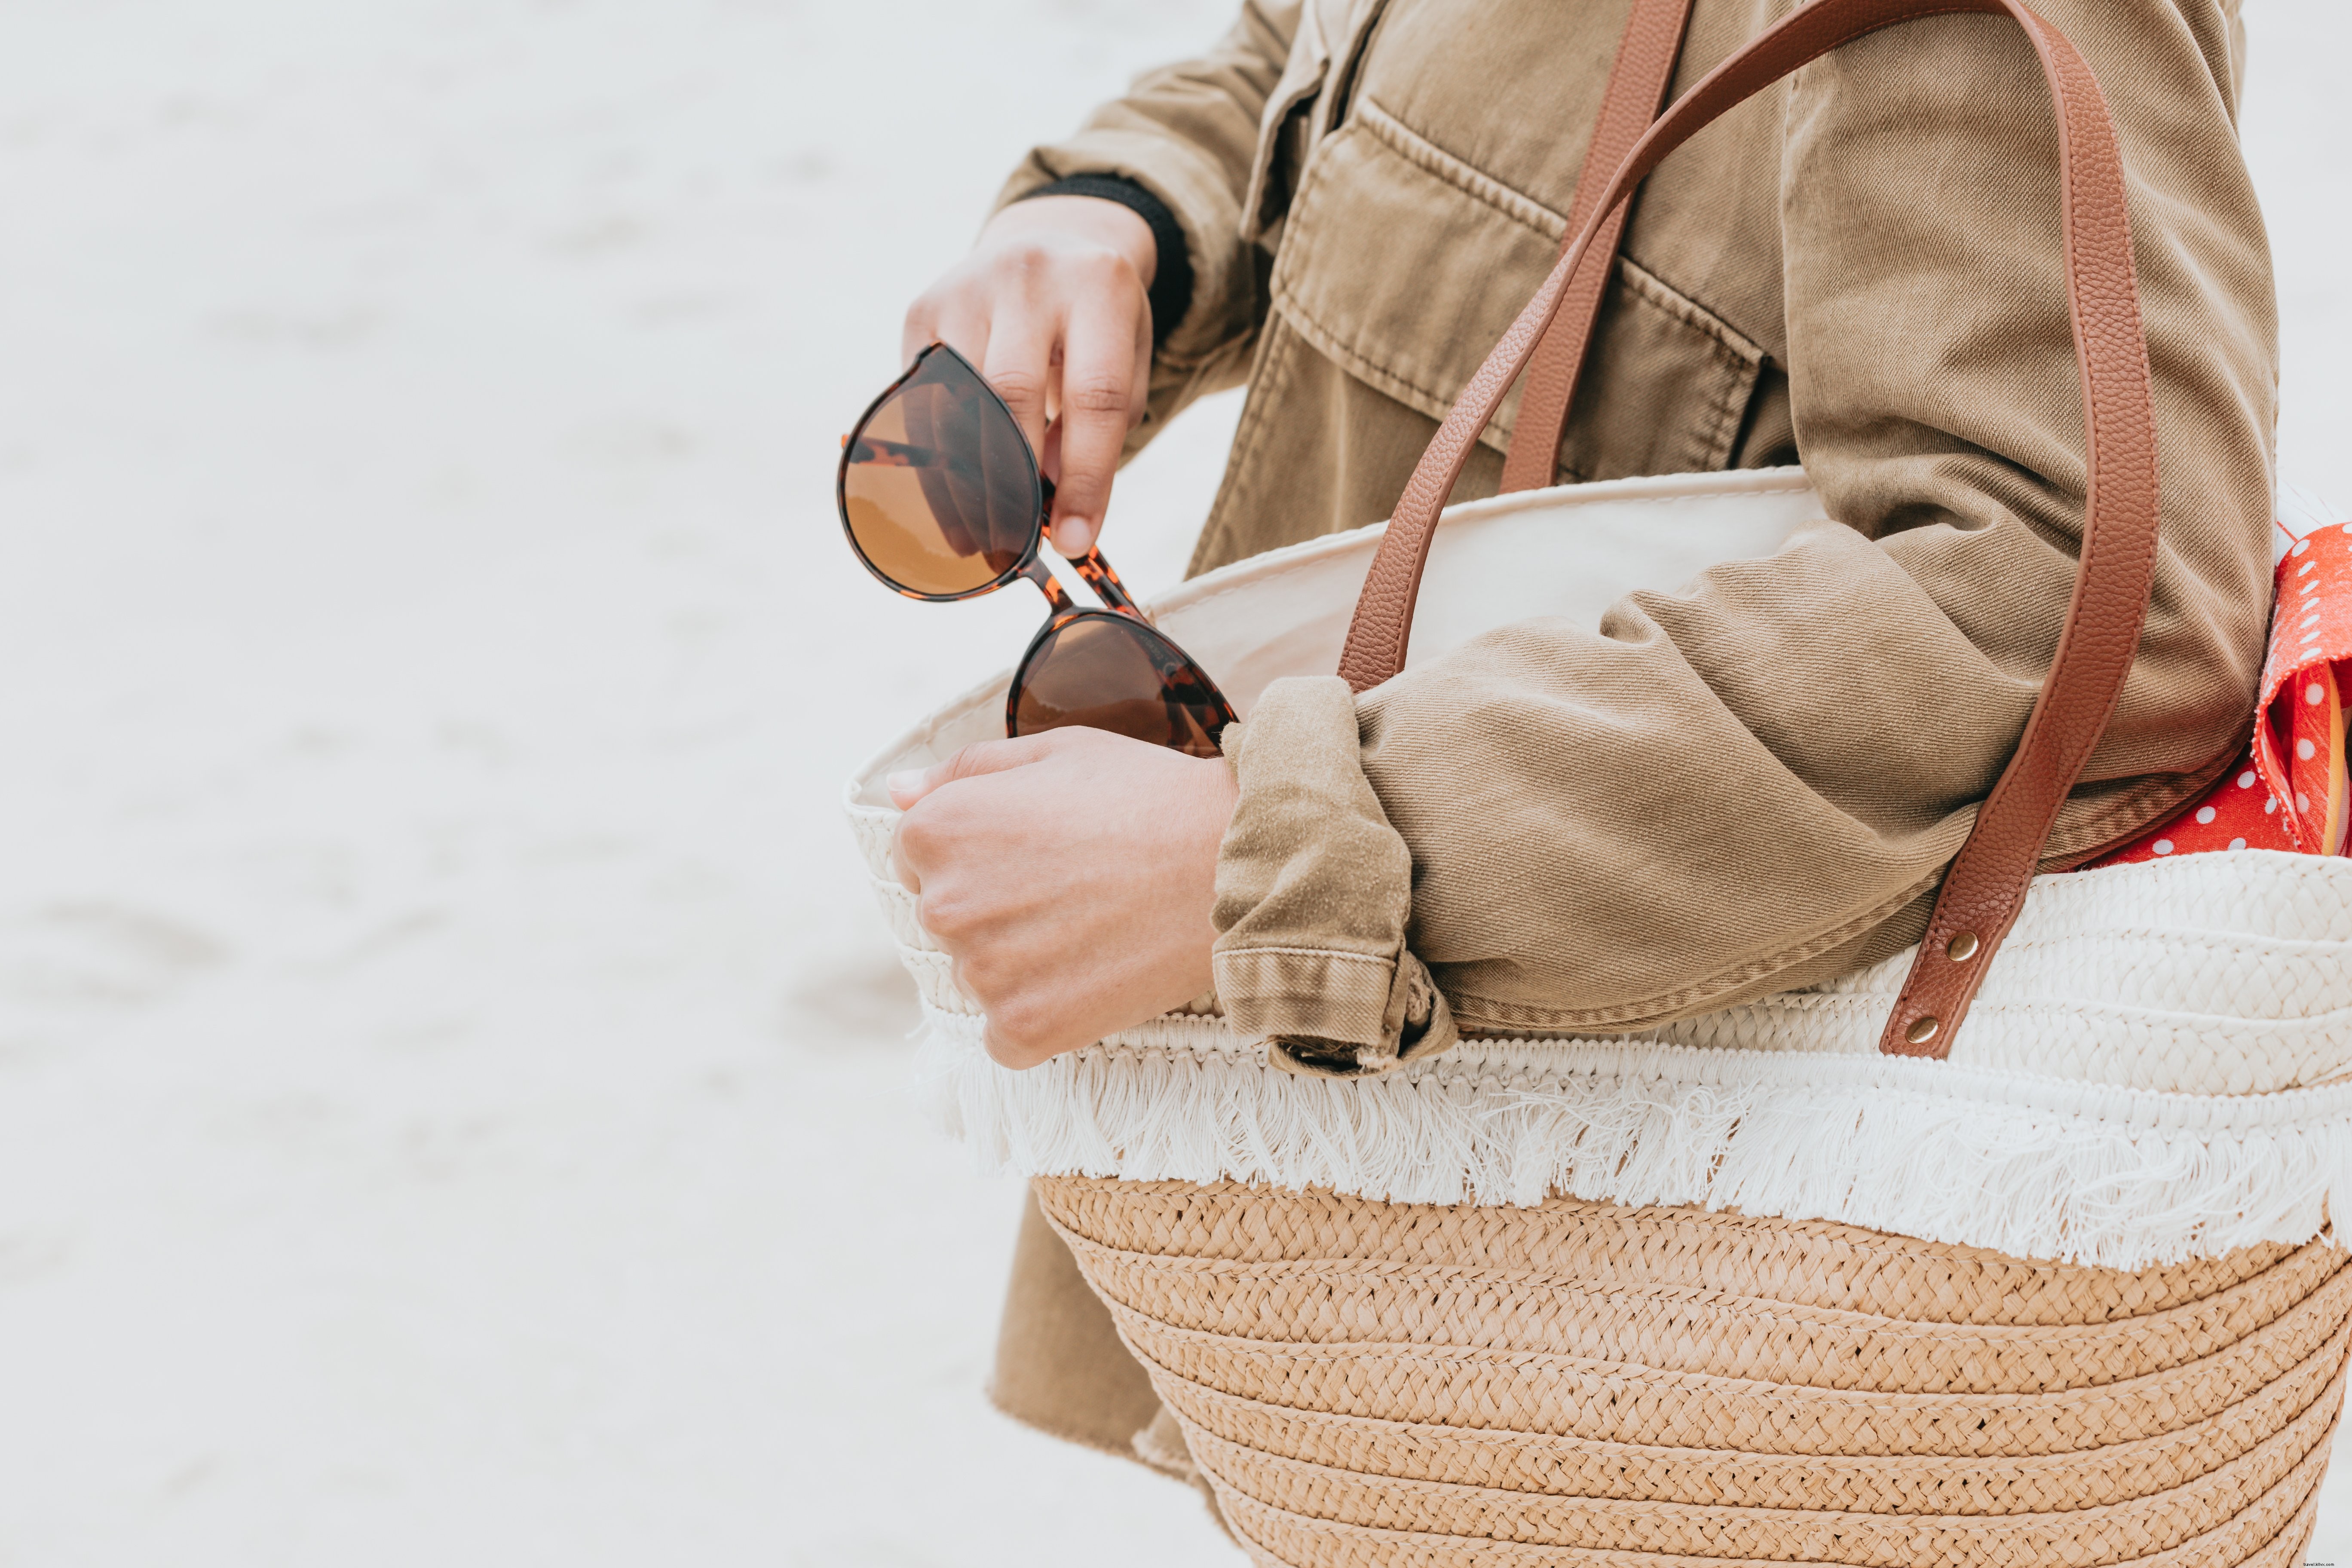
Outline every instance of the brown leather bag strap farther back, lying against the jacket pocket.
<svg viewBox="0 0 2352 1568"><path fill-rule="evenodd" d="M1562 256L1602 205L1609 172L1625 162L1625 153L1658 118L1665 89L1675 85L1675 56L1682 54L1682 33L1689 24L1691 0L1632 0L1616 59L1609 63L1609 85L1602 87L1602 113L1592 120L1592 143L1585 148L1583 169L1576 172L1569 230L1559 235ZM1519 421L1510 433L1510 456L1503 458L1505 491L1543 489L1552 482L1559 435L1569 428L1569 404L1576 402L1576 376L1585 364L1585 346L1592 343L1592 322L1599 320L1628 216L1630 207L1611 207L1592 244L1585 247L1585 261L1569 273L1569 287L1543 341L1536 343L1536 357L1526 362Z"/></svg>

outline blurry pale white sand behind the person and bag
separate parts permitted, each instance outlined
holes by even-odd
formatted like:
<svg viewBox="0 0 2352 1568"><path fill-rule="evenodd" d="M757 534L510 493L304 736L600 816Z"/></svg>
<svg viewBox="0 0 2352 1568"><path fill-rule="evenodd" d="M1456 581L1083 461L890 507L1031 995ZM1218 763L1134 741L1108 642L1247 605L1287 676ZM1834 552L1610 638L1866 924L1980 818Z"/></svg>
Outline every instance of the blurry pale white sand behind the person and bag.
<svg viewBox="0 0 2352 1568"><path fill-rule="evenodd" d="M2352 496L2352 19L2249 7ZM981 1401L1016 1187L835 790L1037 604L828 491L1018 150L1225 14L0 7L0 1563L1237 1561Z"/></svg>

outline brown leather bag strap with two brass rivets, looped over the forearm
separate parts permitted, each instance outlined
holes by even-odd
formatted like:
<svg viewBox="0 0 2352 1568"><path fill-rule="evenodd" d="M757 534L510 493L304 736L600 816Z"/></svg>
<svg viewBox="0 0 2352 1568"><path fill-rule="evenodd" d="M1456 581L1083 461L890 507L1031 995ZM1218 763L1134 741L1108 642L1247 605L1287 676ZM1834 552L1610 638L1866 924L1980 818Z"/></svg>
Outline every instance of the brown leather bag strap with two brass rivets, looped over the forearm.
<svg viewBox="0 0 2352 1568"><path fill-rule="evenodd" d="M2058 205L2067 313L2082 369L2089 496L2058 658L2009 769L1943 877L1926 940L1879 1041L1896 1056L1950 1051L1985 964L2025 905L2051 823L2114 715L2147 621L2157 559L2157 414L2114 120L2074 45L2018 0L1813 0L1677 99L1599 197L1599 214L1613 212L1693 132L1806 61L1884 26L1955 12L2009 16L2025 28L2058 108ZM1599 233L1597 216L1463 388L1404 487L1341 654L1338 672L1355 691L1369 691L1404 668L1437 515L1470 461L1472 442L1526 364L1569 275ZM1987 280L1987 287L1999 282Z"/></svg>

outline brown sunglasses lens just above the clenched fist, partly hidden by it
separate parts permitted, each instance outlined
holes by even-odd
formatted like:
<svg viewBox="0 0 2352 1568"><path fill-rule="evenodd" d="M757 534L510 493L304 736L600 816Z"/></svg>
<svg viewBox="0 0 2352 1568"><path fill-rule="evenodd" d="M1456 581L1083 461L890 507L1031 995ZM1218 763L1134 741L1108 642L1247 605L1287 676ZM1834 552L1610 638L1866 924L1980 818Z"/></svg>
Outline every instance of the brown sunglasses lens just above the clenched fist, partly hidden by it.
<svg viewBox="0 0 2352 1568"><path fill-rule="evenodd" d="M1216 757L1216 731L1230 719L1216 684L1174 642L1129 616L1082 611L1023 661L1011 731L1084 724Z"/></svg>

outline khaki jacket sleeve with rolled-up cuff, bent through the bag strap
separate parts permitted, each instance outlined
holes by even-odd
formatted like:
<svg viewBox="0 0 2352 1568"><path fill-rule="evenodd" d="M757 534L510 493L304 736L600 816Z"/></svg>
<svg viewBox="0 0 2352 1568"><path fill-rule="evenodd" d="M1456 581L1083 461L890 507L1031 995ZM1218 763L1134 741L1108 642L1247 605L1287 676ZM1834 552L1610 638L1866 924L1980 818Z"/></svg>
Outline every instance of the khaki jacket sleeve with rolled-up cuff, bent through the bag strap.
<svg viewBox="0 0 2352 1568"><path fill-rule="evenodd" d="M2044 12L2122 132L2164 496L2147 632L2056 865L2176 809L2246 743L2277 329L2223 12ZM1341 950L1390 980L1425 964L1463 1030L1616 1032L1919 938L2074 581L2056 158L2004 19L1889 28L1797 75L1788 376L1828 517L1769 559L1630 595L1597 630L1508 625L1355 703L1336 679L1268 691L1228 745L1216 978L1237 1027L1308 1065L1336 1041L1359 1070L1409 1058L1383 976L1317 992ZM1296 809L1303 780L1350 771L1362 792L1319 783L1324 809Z"/></svg>

